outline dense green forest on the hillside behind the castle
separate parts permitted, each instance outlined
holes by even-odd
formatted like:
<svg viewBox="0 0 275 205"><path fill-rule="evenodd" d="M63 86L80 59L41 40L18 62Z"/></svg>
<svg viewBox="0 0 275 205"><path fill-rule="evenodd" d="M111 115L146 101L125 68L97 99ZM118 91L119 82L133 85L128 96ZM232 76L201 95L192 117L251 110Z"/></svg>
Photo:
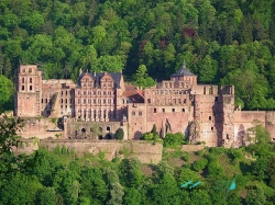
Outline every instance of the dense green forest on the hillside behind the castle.
<svg viewBox="0 0 275 205"><path fill-rule="evenodd" d="M273 110L274 20L274 0L1 0L0 83L9 89L0 103L12 110L8 84L20 64L38 65L44 79L122 70L146 87L185 61L199 83L234 84L237 106Z"/></svg>

